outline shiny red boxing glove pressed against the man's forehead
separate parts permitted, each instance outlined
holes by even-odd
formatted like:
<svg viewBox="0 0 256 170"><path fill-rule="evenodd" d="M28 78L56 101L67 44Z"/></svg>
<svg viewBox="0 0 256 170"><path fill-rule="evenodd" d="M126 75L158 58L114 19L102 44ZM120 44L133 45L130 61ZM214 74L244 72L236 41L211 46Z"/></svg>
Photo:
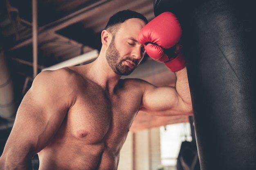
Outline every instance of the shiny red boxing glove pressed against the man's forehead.
<svg viewBox="0 0 256 170"><path fill-rule="evenodd" d="M186 67L183 55L176 51L181 36L182 29L177 17L171 12L164 12L141 29L138 40L144 44L149 57L164 62L169 70L177 72Z"/></svg>

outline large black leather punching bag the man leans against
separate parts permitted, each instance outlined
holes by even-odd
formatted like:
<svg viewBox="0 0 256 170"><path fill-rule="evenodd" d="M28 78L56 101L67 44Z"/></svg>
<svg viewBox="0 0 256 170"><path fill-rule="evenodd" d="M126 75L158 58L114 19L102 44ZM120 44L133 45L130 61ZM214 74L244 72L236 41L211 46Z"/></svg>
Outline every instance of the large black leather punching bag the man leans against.
<svg viewBox="0 0 256 170"><path fill-rule="evenodd" d="M256 170L254 1L168 2L183 23L201 170Z"/></svg>

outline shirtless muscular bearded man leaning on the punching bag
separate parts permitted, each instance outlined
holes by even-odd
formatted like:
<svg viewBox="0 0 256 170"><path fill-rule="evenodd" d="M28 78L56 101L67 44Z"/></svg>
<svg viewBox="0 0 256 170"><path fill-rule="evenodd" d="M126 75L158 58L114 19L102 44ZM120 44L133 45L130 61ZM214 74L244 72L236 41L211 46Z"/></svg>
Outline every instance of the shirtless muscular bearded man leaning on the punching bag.
<svg viewBox="0 0 256 170"><path fill-rule="evenodd" d="M176 88L120 79L144 57L147 43L138 35L146 24L134 11L116 13L94 62L38 74L18 108L0 169L31 169L38 153L40 170L116 170L138 111L191 115L186 68L175 72Z"/></svg>

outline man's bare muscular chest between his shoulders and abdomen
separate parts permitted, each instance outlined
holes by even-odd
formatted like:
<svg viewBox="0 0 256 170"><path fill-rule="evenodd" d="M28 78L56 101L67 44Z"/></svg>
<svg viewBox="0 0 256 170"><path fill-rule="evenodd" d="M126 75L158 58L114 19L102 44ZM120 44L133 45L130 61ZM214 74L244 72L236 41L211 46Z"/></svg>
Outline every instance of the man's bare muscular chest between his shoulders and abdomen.
<svg viewBox="0 0 256 170"><path fill-rule="evenodd" d="M102 92L80 95L67 113L65 128L87 144L121 142L138 112L140 100L138 95L126 92L111 98Z"/></svg>

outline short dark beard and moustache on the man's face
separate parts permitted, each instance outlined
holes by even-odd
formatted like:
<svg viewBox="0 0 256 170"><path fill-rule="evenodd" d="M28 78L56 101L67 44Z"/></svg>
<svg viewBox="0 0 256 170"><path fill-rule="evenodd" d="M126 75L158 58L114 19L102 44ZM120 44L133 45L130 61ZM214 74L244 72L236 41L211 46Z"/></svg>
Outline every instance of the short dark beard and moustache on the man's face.
<svg viewBox="0 0 256 170"><path fill-rule="evenodd" d="M125 59L119 61L119 59L121 59L121 55L115 46L114 40L115 37L112 38L110 45L106 50L106 59L108 61L108 65L116 74L119 74L121 76L127 76L131 74L133 70L135 70L135 68L137 68L138 60L132 59L131 57L126 57ZM126 60L132 61L133 63L135 63L135 66L133 68L130 68L128 65L123 65L122 62Z"/></svg>

